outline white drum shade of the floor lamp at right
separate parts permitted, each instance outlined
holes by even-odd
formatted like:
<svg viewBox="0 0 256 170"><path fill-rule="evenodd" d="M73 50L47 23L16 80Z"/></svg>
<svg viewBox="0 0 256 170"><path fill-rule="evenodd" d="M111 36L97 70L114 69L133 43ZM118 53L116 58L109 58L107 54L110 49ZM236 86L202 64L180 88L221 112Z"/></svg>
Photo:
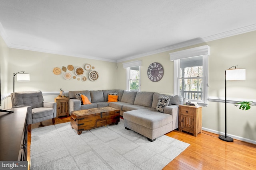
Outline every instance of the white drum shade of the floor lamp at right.
<svg viewBox="0 0 256 170"><path fill-rule="evenodd" d="M245 80L245 69L226 70L226 80Z"/></svg>

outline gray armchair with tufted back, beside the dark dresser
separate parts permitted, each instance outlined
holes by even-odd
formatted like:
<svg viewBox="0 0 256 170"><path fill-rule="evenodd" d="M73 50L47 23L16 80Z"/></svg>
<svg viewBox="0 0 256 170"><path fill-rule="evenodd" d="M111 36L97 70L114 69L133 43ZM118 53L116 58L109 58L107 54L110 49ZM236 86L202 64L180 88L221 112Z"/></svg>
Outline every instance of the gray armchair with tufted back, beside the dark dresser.
<svg viewBox="0 0 256 170"><path fill-rule="evenodd" d="M44 102L41 91L14 92L11 94L12 108L28 107L28 131L31 131L33 123L56 119L56 103Z"/></svg>

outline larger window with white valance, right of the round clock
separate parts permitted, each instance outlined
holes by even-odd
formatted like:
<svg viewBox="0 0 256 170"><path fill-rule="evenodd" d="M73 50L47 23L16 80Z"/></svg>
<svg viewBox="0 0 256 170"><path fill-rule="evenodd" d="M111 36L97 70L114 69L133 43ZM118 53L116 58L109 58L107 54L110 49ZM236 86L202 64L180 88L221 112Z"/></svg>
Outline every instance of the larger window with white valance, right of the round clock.
<svg viewBox="0 0 256 170"><path fill-rule="evenodd" d="M170 53L174 61L174 94L207 106L208 45Z"/></svg>

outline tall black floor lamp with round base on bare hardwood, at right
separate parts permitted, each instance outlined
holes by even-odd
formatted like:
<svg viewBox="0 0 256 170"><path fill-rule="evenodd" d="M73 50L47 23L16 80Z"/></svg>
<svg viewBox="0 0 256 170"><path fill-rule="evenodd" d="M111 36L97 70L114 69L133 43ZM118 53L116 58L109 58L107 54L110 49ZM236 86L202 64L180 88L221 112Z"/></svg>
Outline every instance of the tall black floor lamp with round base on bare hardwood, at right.
<svg viewBox="0 0 256 170"><path fill-rule="evenodd" d="M234 141L232 137L227 136L227 81L245 80L245 69L236 69L236 67L237 66L232 66L228 70L225 70L225 135L220 135L219 139L226 142Z"/></svg>

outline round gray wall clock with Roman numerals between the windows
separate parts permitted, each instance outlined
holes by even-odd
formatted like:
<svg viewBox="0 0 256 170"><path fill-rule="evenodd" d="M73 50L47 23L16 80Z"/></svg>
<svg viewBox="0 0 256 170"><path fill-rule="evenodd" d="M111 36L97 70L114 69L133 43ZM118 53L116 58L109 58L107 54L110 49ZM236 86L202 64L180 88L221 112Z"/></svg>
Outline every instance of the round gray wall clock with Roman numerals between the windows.
<svg viewBox="0 0 256 170"><path fill-rule="evenodd" d="M152 63L148 66L148 78L152 82L158 82L164 76L164 68L160 63Z"/></svg>

